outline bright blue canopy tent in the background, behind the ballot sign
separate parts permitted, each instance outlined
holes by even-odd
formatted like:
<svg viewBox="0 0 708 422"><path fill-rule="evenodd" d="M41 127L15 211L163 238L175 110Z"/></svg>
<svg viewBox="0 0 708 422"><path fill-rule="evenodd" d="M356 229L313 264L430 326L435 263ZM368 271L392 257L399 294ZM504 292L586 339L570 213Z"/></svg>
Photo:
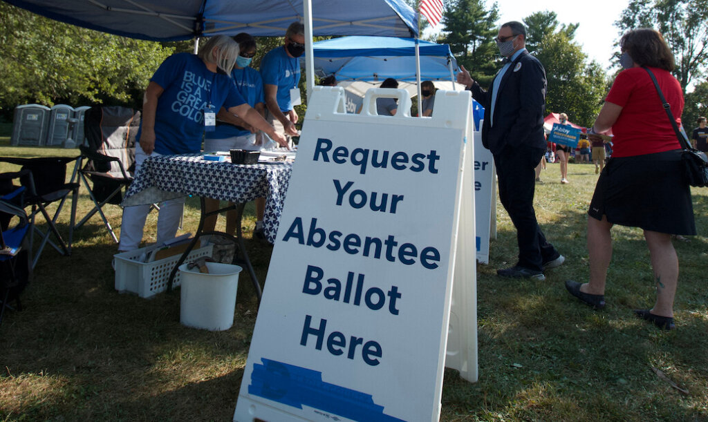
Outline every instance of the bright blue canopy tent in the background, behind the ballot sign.
<svg viewBox="0 0 708 422"><path fill-rule="evenodd" d="M416 40L352 36L315 42L314 69L337 81L416 81ZM419 41L421 80L453 80L457 61L449 45Z"/></svg>

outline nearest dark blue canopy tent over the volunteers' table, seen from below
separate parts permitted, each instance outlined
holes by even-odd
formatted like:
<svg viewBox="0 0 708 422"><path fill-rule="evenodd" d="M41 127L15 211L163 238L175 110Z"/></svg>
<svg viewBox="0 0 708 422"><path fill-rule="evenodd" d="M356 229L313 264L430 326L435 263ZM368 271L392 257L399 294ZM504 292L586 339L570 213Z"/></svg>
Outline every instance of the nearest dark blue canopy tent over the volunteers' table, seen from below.
<svg viewBox="0 0 708 422"><path fill-rule="evenodd" d="M313 36L418 35L416 12L404 0L3 0L47 18L105 33L154 41L211 35L285 35L305 25L306 56ZM312 76L312 66L306 72ZM312 77L307 78L308 92Z"/></svg>

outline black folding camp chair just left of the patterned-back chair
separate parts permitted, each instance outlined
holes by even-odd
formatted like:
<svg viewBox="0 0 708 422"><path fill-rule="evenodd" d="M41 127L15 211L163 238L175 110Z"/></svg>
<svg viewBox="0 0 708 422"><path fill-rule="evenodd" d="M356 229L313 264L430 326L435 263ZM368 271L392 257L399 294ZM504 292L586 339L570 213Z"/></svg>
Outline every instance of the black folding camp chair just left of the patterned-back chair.
<svg viewBox="0 0 708 422"><path fill-rule="evenodd" d="M79 157L40 157L40 158L13 158L0 157L0 162L21 165L22 170L28 170L20 177L20 182L26 191L23 198L23 208L30 207L29 213L30 225L33 230L30 230L30 254L34 251L32 259L32 267L37 265L37 262L42 254L42 250L47 245L57 250L64 256L72 254L72 236L74 227L74 216L76 215L76 195L79 193L79 184L73 181L66 182L67 165L72 161L76 161ZM78 161L76 161L78 163ZM57 230L57 220L59 214L64 208L64 204L69 199L69 194L72 197L72 213L69 223L69 238L64 241L62 235ZM53 216L50 216L47 211L49 204L58 202L57 210ZM47 231L42 231L38 228L36 218L42 216L47 223ZM40 235L40 242L37 250L34 250L35 233ZM54 240L50 236L54 235Z"/></svg>

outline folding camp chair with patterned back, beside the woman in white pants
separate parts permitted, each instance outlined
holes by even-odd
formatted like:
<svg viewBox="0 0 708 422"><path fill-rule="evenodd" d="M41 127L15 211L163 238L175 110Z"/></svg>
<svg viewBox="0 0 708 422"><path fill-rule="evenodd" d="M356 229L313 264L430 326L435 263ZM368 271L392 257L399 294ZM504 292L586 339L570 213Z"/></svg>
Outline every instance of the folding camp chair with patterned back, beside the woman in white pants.
<svg viewBox="0 0 708 422"><path fill-rule="evenodd" d="M119 205L122 189L127 189L133 180L140 112L126 107L91 107L84 116L84 144L79 148L81 160L86 163L79 168L79 178L89 191L93 209L74 228L81 227L98 212L113 240L118 242L103 206Z"/></svg>

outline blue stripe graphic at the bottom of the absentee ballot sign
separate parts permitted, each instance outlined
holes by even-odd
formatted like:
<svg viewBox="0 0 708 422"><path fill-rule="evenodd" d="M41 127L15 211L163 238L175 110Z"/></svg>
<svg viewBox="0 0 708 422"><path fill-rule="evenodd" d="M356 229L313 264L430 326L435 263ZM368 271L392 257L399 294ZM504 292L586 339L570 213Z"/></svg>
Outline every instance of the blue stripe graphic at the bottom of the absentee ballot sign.
<svg viewBox="0 0 708 422"><path fill-rule="evenodd" d="M309 406L355 421L401 422L384 414L371 394L322 381L322 373L270 359L253 364L249 394L302 409ZM318 412L320 413L320 412ZM325 415L333 421L336 416Z"/></svg>

